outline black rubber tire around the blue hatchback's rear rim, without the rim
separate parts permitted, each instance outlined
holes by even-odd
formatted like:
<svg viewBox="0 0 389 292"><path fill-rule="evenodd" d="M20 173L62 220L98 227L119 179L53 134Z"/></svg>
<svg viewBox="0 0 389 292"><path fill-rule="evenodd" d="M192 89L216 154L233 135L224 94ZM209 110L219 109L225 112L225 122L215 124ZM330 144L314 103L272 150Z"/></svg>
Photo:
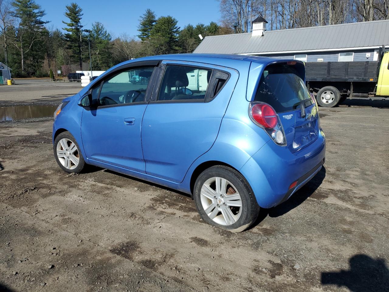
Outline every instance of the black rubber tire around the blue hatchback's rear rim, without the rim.
<svg viewBox="0 0 389 292"><path fill-rule="evenodd" d="M235 186L236 191L239 193L242 207L240 208L240 216L238 220L231 225L221 225L214 220L212 220L207 213L204 211L200 193L203 184L210 178L220 177L229 181L233 186ZM259 214L259 205L254 196L254 193L251 190L251 187L247 183L246 179L235 169L224 165L212 166L209 169L203 171L200 176L196 179L194 187L194 199L198 213L202 219L209 223L224 230L231 232L242 232L249 228L258 218ZM231 208L231 207L228 207Z"/></svg>

